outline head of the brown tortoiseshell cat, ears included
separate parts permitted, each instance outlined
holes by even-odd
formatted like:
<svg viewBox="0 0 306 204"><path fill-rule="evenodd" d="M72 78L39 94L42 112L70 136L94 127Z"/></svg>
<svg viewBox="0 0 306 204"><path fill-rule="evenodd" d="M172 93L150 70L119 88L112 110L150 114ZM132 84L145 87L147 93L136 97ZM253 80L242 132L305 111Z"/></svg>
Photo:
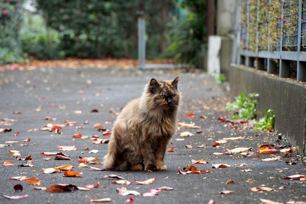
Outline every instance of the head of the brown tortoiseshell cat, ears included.
<svg viewBox="0 0 306 204"><path fill-rule="evenodd" d="M179 106L180 91L177 89L179 77L174 80L158 82L151 79L148 92L152 97L152 104L161 110L173 110Z"/></svg>

